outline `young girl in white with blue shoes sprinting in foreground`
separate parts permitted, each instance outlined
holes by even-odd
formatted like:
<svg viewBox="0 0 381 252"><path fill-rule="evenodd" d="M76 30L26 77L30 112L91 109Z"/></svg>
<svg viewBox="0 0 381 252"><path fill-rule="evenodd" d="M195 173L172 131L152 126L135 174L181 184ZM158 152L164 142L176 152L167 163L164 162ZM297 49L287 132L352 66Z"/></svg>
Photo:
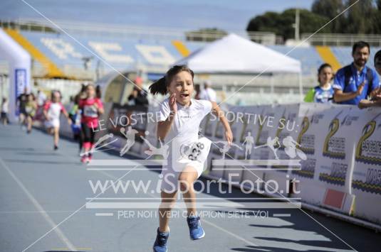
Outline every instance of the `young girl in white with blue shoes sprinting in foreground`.
<svg viewBox="0 0 381 252"><path fill-rule="evenodd" d="M168 70L165 77L150 86L152 94L169 93L169 98L160 106L157 123L157 137L170 146L168 165L162 168L160 224L153 246L153 251L157 252L167 251L169 214L176 201L178 189L181 190L187 205L190 238L197 240L205 235L200 218L197 216L196 195L193 188L194 182L202 174L204 160L184 158L179 150L183 146L194 146L194 143L199 141L199 124L210 111L213 111L224 125L226 141L231 143L233 139L229 123L215 102L191 99L194 92L193 77L193 71L187 66L174 66Z"/></svg>

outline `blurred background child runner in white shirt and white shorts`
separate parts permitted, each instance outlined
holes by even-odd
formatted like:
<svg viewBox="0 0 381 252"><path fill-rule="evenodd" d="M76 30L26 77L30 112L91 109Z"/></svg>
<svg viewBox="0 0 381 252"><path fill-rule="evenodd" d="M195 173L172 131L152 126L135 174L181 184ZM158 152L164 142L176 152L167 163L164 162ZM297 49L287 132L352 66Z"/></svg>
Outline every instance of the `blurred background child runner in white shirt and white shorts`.
<svg viewBox="0 0 381 252"><path fill-rule="evenodd" d="M58 150L61 113L68 119L68 124L71 124L68 112L61 104L61 93L53 91L51 101L46 102L45 106L43 106L43 115L46 119L45 126L48 133L53 134L54 150Z"/></svg>

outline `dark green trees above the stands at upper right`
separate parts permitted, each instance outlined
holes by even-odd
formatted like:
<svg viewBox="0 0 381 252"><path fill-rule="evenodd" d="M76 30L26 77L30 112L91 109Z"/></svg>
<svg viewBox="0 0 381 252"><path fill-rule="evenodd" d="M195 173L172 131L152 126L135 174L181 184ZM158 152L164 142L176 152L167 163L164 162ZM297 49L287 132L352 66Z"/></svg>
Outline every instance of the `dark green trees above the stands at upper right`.
<svg viewBox="0 0 381 252"><path fill-rule="evenodd" d="M355 1L315 0L311 11L301 10L300 32L313 33L330 22L320 33L380 34L381 0L361 0L354 4ZM272 31L286 40L294 36L294 22L295 9L283 13L266 12L251 18L246 31Z"/></svg>

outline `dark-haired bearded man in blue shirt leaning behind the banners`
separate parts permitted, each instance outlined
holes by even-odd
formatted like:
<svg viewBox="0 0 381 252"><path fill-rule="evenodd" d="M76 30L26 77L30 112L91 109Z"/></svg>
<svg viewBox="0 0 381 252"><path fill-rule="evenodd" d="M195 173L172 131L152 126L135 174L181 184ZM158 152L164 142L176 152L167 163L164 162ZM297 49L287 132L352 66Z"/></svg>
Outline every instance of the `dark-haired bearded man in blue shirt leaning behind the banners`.
<svg viewBox="0 0 381 252"><path fill-rule="evenodd" d="M380 87L380 79L370 67L365 65L370 55L370 46L364 41L353 45L353 62L335 75L333 99L338 104L358 105L360 100L367 99L370 92Z"/></svg>

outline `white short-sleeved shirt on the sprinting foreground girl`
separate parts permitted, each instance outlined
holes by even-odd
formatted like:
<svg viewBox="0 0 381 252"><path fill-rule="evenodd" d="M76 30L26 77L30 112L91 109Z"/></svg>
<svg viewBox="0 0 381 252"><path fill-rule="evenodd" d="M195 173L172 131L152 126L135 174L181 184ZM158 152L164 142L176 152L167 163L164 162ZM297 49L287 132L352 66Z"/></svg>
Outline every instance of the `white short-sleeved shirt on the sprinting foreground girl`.
<svg viewBox="0 0 381 252"><path fill-rule="evenodd" d="M169 145L168 165L181 157L180 149L198 141L199 125L204 116L212 110L212 103L205 100L191 99L190 106L177 103L177 113L164 142ZM160 105L159 121L167 120L170 114L169 99Z"/></svg>

